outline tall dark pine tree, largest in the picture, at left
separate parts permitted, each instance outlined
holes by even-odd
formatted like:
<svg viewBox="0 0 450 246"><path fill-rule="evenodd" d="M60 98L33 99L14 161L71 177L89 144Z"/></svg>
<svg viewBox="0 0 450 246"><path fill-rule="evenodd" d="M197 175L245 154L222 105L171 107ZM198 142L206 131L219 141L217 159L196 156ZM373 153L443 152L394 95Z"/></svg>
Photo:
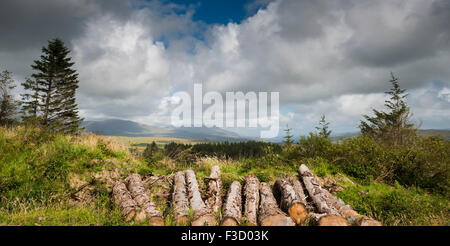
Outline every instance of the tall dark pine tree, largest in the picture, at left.
<svg viewBox="0 0 450 246"><path fill-rule="evenodd" d="M32 77L39 94L42 125L63 133L77 133L82 119L75 102L78 74L72 69L70 51L60 39L53 39L42 52L41 59L31 66L37 71Z"/></svg>

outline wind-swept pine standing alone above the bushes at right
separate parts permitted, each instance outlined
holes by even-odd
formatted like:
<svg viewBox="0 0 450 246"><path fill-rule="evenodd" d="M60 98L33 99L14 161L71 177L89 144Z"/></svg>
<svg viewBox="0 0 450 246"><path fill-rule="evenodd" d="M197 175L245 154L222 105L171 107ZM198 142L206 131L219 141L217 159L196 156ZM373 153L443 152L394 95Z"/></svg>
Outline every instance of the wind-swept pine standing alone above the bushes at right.
<svg viewBox="0 0 450 246"><path fill-rule="evenodd" d="M364 135L390 145L402 145L411 136L416 134L416 127L409 121L412 117L409 107L406 105L406 90L401 89L398 78L391 73L392 88L385 92L390 96L385 101L388 111L373 109L375 116L363 115L365 121L361 121L359 128Z"/></svg>

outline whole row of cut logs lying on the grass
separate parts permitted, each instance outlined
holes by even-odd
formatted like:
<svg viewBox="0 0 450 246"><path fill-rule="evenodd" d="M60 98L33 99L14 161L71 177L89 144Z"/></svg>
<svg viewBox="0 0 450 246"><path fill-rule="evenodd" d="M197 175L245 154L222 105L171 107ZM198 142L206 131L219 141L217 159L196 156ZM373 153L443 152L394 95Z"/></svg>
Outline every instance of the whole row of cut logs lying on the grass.
<svg viewBox="0 0 450 246"><path fill-rule="evenodd" d="M213 226L220 221L223 226L238 226L245 221L249 225L294 226L304 224L307 217L319 226L381 225L358 214L324 189L307 166L301 165L298 174L277 179L273 189L268 183L260 183L255 175L248 175L244 187L238 181L231 183L224 202L218 166L212 167L206 178L205 200L193 170L170 176L148 175L144 181L139 174L131 174L125 180L116 181L112 191L125 221L148 221L150 225L164 225L163 214L158 209L162 205L157 206L152 200L163 185L167 187L157 201L166 204L171 200L174 225Z"/></svg>

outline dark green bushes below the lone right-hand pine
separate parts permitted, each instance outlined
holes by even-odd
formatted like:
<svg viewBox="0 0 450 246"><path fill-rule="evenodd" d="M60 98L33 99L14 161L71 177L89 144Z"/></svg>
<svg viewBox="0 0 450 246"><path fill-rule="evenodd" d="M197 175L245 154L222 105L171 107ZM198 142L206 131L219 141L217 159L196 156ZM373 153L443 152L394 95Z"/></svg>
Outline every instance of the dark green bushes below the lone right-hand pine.
<svg viewBox="0 0 450 246"><path fill-rule="evenodd" d="M397 181L450 196L450 142L440 137L414 137L392 148L367 135L333 143L311 133L295 152L295 162L320 157L362 182Z"/></svg>

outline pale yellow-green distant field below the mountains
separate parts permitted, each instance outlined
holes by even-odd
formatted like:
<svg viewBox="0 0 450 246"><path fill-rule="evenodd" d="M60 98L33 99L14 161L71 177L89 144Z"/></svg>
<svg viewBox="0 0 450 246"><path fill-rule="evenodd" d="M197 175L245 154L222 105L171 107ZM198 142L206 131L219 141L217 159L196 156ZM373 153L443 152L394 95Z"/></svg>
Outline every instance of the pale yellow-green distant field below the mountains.
<svg viewBox="0 0 450 246"><path fill-rule="evenodd" d="M171 138L171 137L123 137L123 136L110 136L114 141L123 144L128 148L136 148L140 151L144 150L147 144L151 144L155 141L158 145L165 145L170 142L193 144L201 141L185 139L185 138Z"/></svg>

